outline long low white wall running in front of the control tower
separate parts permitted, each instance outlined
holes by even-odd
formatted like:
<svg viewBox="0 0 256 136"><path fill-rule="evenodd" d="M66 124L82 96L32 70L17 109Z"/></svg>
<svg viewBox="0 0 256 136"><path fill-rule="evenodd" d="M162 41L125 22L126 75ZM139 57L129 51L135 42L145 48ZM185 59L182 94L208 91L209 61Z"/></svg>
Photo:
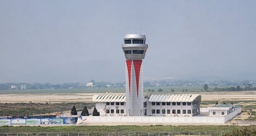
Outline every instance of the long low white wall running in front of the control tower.
<svg viewBox="0 0 256 136"><path fill-rule="evenodd" d="M129 122L129 123L218 123L223 124L241 113L241 108L227 116L82 116L85 122Z"/></svg>

